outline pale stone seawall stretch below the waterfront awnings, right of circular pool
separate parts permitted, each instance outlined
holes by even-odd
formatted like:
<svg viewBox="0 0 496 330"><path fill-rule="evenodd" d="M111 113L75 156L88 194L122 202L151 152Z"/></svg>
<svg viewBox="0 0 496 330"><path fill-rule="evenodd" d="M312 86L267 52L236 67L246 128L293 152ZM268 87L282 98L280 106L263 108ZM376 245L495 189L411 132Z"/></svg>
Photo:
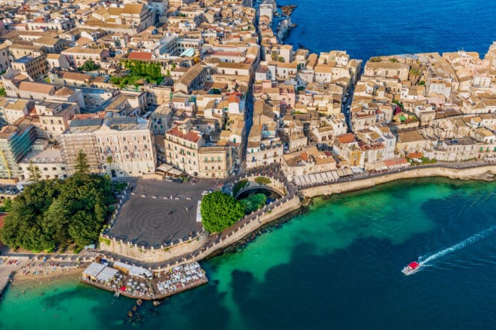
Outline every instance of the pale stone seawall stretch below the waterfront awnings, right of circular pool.
<svg viewBox="0 0 496 330"><path fill-rule="evenodd" d="M406 169L404 171L384 174L381 176L374 176L371 178L361 179L361 180L351 180L339 183L331 183L326 186L315 186L311 188L301 189L301 193L304 194L306 198L312 198L316 196L329 196L333 193L345 193L347 191L356 191L365 188L372 188L381 183L386 183L390 181L396 181L400 179L415 179L415 178L425 178L430 176L444 176L450 179L461 179L461 180L487 180L489 176L496 174L496 165L479 166L467 169L454 169L447 168L443 166L439 167L425 167L416 169Z"/></svg>

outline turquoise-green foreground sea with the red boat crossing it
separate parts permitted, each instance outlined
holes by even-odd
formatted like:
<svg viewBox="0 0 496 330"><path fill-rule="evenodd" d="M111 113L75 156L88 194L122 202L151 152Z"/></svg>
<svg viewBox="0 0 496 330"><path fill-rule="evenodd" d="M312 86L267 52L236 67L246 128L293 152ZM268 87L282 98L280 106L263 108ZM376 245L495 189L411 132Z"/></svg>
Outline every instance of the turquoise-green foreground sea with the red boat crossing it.
<svg viewBox="0 0 496 330"><path fill-rule="evenodd" d="M202 266L210 283L145 303L63 280L9 289L0 329L494 329L496 183L419 179L316 199ZM41 292L44 292L41 295Z"/></svg>

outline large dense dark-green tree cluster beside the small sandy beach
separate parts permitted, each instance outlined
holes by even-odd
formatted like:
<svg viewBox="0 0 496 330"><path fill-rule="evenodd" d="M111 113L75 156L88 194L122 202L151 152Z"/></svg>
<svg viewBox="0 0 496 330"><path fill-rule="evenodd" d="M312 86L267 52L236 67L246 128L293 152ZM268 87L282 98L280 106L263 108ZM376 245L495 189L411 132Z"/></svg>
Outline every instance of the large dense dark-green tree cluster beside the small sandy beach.
<svg viewBox="0 0 496 330"><path fill-rule="evenodd" d="M108 206L113 202L110 179L89 174L80 154L76 174L68 179L41 180L14 198L0 238L11 248L53 252L76 243L98 240Z"/></svg>

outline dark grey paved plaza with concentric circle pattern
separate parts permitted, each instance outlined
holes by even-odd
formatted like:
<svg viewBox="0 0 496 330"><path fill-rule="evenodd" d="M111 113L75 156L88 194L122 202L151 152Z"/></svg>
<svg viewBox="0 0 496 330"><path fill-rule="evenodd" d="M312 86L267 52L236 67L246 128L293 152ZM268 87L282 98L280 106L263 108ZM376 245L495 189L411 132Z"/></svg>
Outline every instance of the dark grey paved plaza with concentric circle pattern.
<svg viewBox="0 0 496 330"><path fill-rule="evenodd" d="M202 191L214 186L212 181L139 180L109 234L147 247L184 240L202 230L202 223L197 222L197 203Z"/></svg>

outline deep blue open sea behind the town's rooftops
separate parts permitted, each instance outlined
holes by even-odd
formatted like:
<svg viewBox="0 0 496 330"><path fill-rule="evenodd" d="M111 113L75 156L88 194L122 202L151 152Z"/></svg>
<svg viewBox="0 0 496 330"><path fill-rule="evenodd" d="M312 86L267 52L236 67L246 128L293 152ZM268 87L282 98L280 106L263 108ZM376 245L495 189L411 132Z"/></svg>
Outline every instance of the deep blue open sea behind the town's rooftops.
<svg viewBox="0 0 496 330"><path fill-rule="evenodd" d="M496 1L279 0L297 4L286 43L312 52L347 50L351 58L477 51L496 40Z"/></svg>

